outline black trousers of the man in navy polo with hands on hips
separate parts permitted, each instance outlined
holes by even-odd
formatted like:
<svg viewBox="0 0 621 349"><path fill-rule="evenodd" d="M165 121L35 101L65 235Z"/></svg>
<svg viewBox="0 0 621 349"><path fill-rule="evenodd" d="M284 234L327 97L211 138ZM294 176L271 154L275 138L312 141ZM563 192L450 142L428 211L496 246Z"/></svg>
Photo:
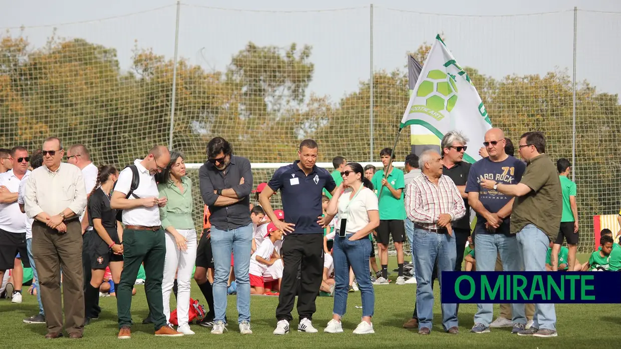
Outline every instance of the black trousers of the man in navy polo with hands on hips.
<svg viewBox="0 0 621 349"><path fill-rule="evenodd" d="M276 319L291 321L291 311L297 296L300 319L312 320L315 299L319 294L324 272L324 234L289 234L281 249L283 280L281 281ZM297 272L300 270L299 290Z"/></svg>

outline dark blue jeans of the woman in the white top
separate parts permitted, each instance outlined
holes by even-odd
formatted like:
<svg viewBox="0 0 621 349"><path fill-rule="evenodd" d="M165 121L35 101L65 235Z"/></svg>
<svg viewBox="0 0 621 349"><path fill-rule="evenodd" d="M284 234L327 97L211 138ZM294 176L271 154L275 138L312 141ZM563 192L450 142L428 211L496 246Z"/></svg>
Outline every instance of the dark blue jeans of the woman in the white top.
<svg viewBox="0 0 621 349"><path fill-rule="evenodd" d="M347 237L334 237L332 258L334 260L334 308L333 313L338 316L345 315L347 311L347 294L349 286L349 269L358 281L360 296L362 298L362 316L373 316L375 307L375 293L371 278L369 277L369 255L371 255L371 241L363 237L356 241L350 241L351 234Z"/></svg>

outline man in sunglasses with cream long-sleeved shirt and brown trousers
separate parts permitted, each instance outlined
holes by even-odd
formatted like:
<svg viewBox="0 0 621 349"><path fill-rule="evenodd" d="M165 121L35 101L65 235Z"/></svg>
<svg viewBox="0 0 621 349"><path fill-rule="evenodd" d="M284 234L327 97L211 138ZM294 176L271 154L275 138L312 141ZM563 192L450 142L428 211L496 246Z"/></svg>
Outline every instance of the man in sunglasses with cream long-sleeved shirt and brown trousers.
<svg viewBox="0 0 621 349"><path fill-rule="evenodd" d="M32 224L32 254L39 273L41 301L45 308L47 335L63 336L63 309L58 302L60 269L63 270L65 329L70 338L82 338L84 290L82 234L79 215L86 208L82 172L62 163L63 144L57 137L43 142L43 164L32 171L25 188L24 205Z"/></svg>

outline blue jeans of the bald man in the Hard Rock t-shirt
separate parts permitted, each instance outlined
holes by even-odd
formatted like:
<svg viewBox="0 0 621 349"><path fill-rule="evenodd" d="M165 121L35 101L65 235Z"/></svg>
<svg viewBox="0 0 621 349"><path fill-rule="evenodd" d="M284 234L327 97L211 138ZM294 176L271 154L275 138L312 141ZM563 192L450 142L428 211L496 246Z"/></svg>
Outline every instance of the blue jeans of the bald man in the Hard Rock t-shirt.
<svg viewBox="0 0 621 349"><path fill-rule="evenodd" d="M497 255L500 253L502 270L505 272L519 272L522 270L522 256L517 243L517 237L504 234L486 234L485 228L477 226L474 229L474 246L477 272L494 272ZM477 304L474 314L474 324L484 324L489 327L494 316L494 304ZM526 324L524 304L511 304L512 322Z"/></svg>

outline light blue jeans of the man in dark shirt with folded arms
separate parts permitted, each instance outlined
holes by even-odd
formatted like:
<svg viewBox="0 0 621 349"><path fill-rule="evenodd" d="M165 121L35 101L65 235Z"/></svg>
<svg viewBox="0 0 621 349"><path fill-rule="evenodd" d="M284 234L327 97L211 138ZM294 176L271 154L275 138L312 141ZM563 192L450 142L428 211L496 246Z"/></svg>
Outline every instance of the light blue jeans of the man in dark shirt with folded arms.
<svg viewBox="0 0 621 349"><path fill-rule="evenodd" d="M233 270L237 281L237 321L250 322L250 255L252 224L228 231L211 227L211 252L214 256L214 320L223 321L227 312L227 288L233 252Z"/></svg>

